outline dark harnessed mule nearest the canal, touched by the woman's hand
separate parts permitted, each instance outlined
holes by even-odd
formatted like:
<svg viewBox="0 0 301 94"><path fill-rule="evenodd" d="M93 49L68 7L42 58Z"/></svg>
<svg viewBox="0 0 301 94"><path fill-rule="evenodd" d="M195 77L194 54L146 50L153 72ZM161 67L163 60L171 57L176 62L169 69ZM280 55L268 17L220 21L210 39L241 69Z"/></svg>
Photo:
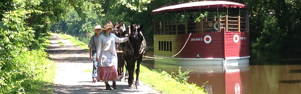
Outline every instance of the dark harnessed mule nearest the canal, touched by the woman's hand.
<svg viewBox="0 0 301 94"><path fill-rule="evenodd" d="M139 89L139 72L140 64L142 62L142 54L147 50L146 41L142 34L142 26L131 25L130 29L123 32L123 35L129 35L129 41L122 43L123 54L127 63L127 70L129 71L129 87L133 87L135 84L136 89ZM134 83L134 69L136 68L136 82Z"/></svg>

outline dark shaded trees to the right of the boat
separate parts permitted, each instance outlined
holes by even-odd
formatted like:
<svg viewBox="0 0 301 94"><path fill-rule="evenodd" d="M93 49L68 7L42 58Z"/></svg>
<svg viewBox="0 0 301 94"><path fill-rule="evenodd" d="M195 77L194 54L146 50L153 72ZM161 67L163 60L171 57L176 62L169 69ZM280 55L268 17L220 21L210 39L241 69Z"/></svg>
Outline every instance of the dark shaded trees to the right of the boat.
<svg viewBox="0 0 301 94"><path fill-rule="evenodd" d="M250 43L253 48L301 52L300 0L244 0L250 6Z"/></svg>

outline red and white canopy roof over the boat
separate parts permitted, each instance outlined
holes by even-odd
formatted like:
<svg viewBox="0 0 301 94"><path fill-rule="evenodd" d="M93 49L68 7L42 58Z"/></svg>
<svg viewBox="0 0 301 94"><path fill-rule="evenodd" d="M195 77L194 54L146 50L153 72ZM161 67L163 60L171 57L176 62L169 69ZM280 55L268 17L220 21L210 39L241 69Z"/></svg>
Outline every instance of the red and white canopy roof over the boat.
<svg viewBox="0 0 301 94"><path fill-rule="evenodd" d="M161 12L199 12L199 11L227 11L227 8L249 9L249 6L229 1L197 1L183 4L165 6L153 10L153 13Z"/></svg>

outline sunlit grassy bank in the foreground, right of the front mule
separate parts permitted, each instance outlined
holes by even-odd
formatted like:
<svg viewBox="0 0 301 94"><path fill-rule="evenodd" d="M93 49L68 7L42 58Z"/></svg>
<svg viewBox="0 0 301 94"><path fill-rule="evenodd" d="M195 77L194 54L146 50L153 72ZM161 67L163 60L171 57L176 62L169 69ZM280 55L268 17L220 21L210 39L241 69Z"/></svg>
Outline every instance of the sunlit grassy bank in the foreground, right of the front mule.
<svg viewBox="0 0 301 94"><path fill-rule="evenodd" d="M172 75L165 71L149 70L140 65L139 80L144 83L151 84L157 90L166 94L205 94L204 86L199 87L194 83L181 83L176 81Z"/></svg>

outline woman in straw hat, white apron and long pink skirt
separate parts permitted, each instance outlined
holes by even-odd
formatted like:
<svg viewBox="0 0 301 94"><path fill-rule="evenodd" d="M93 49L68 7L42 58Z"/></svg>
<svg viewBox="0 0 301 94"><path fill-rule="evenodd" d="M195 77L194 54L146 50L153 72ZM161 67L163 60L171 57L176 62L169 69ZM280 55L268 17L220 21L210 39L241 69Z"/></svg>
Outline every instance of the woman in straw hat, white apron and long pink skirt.
<svg viewBox="0 0 301 94"><path fill-rule="evenodd" d="M126 38L118 38L115 34L110 32L113 31L111 24L106 24L102 28L104 34L98 38L97 45L97 58L98 61L98 79L103 80L106 84L106 90L112 90L108 84L108 80L113 81L113 88L117 89L115 80L118 79L117 74L117 53L116 53L116 43L123 43L129 40Z"/></svg>

